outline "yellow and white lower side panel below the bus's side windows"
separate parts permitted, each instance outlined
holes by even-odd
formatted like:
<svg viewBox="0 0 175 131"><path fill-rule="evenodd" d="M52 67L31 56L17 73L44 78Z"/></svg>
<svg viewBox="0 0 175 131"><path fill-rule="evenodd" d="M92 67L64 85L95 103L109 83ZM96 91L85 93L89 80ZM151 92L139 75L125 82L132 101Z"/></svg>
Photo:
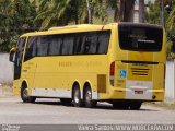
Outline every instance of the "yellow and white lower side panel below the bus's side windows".
<svg viewBox="0 0 175 131"><path fill-rule="evenodd" d="M78 82L83 91L89 82L93 98L98 99L103 83L97 80L107 78L107 56L59 56L36 57L37 64L32 96L71 98L72 86ZM83 93L82 93L83 94Z"/></svg>

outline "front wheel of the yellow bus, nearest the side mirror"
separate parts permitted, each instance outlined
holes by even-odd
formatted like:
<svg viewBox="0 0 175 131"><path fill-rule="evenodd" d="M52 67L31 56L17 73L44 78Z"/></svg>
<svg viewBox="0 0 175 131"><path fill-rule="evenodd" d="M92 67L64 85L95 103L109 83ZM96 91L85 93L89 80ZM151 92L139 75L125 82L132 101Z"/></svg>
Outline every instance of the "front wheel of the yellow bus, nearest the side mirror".
<svg viewBox="0 0 175 131"><path fill-rule="evenodd" d="M26 84L23 84L21 87L21 99L23 103L35 103L36 100L36 97L28 96Z"/></svg>

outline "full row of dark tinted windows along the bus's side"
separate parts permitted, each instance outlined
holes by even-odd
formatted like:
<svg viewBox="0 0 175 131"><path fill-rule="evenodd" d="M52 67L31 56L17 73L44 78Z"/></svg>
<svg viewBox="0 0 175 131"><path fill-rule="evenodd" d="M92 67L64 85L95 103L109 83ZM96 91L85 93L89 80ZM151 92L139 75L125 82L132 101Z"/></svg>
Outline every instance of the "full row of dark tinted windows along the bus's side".
<svg viewBox="0 0 175 131"><path fill-rule="evenodd" d="M24 60L36 56L107 53L109 37L109 31L32 36L28 38Z"/></svg>

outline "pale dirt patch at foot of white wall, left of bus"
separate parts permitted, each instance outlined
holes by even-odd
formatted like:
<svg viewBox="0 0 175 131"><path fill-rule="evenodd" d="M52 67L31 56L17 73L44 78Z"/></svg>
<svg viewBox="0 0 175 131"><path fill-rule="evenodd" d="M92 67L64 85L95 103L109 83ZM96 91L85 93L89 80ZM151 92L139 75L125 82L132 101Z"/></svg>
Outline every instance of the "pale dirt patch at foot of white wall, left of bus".
<svg viewBox="0 0 175 131"><path fill-rule="evenodd" d="M13 96L11 84L0 84L0 97Z"/></svg>

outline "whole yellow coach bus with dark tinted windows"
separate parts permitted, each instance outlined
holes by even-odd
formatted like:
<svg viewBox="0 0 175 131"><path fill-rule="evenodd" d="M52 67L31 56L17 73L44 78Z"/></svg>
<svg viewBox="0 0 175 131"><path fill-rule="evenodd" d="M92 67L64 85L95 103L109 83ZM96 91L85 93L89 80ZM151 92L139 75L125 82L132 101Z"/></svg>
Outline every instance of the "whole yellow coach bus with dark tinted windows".
<svg viewBox="0 0 175 131"><path fill-rule="evenodd" d="M27 33L11 49L14 94L24 103L140 109L164 99L165 32L151 24L71 25Z"/></svg>

